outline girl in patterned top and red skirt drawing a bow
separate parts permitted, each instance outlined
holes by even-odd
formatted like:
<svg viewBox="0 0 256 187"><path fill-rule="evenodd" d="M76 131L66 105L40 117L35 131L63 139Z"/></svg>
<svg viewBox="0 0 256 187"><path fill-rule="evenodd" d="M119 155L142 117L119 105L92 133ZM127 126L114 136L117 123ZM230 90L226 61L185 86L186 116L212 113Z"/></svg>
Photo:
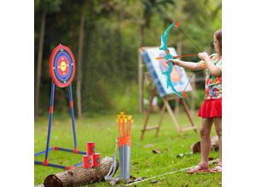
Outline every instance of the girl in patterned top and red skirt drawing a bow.
<svg viewBox="0 0 256 187"><path fill-rule="evenodd" d="M221 172L222 171L222 31L218 30L213 35L213 45L217 54L208 55L199 53L199 64L186 62L180 59L171 59L173 65L179 65L189 70L207 69L206 95L200 107L198 116L201 116L201 162L198 167L192 168L188 173ZM218 166L210 169L208 156L211 151L210 133L212 123L218 134L219 161Z"/></svg>

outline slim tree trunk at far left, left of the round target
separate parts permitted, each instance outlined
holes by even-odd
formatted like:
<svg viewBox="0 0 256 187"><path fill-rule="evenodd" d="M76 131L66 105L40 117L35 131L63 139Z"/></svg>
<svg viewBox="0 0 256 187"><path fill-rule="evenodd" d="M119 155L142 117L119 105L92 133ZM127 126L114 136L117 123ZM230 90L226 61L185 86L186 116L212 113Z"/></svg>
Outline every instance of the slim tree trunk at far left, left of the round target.
<svg viewBox="0 0 256 187"><path fill-rule="evenodd" d="M38 66L37 66L37 80L36 80L36 90L35 90L35 118L38 117L38 105L39 105L39 93L40 93L40 79L41 79L41 69L42 69L42 58L44 49L44 31L45 31L45 20L46 14L43 12L41 17L41 28L39 37L39 47L38 47Z"/></svg>

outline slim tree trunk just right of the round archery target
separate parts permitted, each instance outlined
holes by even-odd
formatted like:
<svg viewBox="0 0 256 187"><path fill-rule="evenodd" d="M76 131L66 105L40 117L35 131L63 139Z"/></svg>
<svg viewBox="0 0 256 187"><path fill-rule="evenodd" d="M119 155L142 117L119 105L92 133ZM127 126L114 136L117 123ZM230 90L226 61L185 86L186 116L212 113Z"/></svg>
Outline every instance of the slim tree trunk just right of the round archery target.
<svg viewBox="0 0 256 187"><path fill-rule="evenodd" d="M80 17L80 29L79 29L79 54L78 54L78 73L77 73L77 106L79 119L82 117L82 99L81 99L81 63L82 63L82 54L83 54L83 43L84 43L84 17L85 17L85 5L82 10Z"/></svg>

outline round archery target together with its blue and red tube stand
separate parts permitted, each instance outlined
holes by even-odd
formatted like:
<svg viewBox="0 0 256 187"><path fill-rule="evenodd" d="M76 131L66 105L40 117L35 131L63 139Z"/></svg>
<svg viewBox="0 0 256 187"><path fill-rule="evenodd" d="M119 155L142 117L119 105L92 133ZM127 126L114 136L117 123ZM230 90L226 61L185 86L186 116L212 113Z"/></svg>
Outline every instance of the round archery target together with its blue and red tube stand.
<svg viewBox="0 0 256 187"><path fill-rule="evenodd" d="M74 112L73 112L73 94L72 94L72 81L75 75L75 59L73 57L73 53L71 52L70 48L67 48L67 46L60 44L52 51L49 58L49 73L52 78L52 82L51 82L51 93L50 93L49 127L48 127L48 135L47 135L47 142L46 142L46 150L43 150L41 152L34 154L35 157L45 154L45 157L44 157L44 161L34 161L34 163L43 165L43 166L49 166L49 167L72 169L73 167L80 166L82 164L82 161L77 164L74 164L71 167L48 162L48 154L49 154L49 151L51 150L62 150L62 151L71 152L73 154L86 155L86 152L80 151L77 148L77 138L76 138L75 120L74 120ZM73 150L56 147L56 146L49 148L49 138L50 138L50 132L51 132L51 123L52 123L52 117L53 117L53 107L54 107L54 97L55 97L55 85L57 85L60 88L68 87L69 105L70 105L72 127L73 127L73 142L74 142Z"/></svg>

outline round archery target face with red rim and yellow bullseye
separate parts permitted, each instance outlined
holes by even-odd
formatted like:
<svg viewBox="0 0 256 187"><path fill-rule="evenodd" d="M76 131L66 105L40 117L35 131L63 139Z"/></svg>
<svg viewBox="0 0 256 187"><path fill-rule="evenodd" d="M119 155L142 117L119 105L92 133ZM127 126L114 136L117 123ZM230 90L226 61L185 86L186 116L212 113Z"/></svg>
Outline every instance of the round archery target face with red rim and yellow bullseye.
<svg viewBox="0 0 256 187"><path fill-rule="evenodd" d="M70 85L75 75L75 59L70 48L60 44L52 51L49 58L49 73L58 87Z"/></svg>

